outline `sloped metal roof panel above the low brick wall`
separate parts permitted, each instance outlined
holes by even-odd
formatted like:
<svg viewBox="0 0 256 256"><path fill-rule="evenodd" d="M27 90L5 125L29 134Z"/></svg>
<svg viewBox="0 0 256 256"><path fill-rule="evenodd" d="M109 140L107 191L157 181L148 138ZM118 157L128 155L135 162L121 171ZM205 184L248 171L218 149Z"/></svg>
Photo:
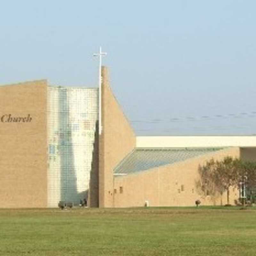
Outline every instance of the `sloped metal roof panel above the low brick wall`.
<svg viewBox="0 0 256 256"><path fill-rule="evenodd" d="M141 172L220 149L222 148L135 148L116 166L114 174Z"/></svg>

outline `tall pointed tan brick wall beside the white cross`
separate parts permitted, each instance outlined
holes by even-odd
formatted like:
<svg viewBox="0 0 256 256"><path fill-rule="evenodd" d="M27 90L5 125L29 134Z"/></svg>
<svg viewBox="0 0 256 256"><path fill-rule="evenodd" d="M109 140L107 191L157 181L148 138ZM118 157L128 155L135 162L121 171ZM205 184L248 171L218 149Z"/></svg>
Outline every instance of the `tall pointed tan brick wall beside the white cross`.
<svg viewBox="0 0 256 256"><path fill-rule="evenodd" d="M102 134L99 140L99 206L113 207L113 169L132 151L135 134L113 95L102 67Z"/></svg>

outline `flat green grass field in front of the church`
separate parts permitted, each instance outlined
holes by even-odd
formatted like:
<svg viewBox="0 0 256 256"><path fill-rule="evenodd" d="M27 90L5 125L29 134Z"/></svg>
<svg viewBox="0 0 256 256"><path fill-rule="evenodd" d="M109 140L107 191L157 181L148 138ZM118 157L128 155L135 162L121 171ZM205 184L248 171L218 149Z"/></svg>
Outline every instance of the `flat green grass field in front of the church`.
<svg viewBox="0 0 256 256"><path fill-rule="evenodd" d="M0 210L0 255L256 255L256 209Z"/></svg>

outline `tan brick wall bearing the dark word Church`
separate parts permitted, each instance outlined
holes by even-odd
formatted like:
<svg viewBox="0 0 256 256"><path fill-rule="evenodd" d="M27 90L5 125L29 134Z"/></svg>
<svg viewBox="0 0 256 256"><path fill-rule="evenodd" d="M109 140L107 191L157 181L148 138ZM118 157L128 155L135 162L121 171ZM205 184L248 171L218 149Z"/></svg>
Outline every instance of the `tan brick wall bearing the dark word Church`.
<svg viewBox="0 0 256 256"><path fill-rule="evenodd" d="M0 86L0 207L47 206L47 82ZM32 117L5 122L3 115Z"/></svg>

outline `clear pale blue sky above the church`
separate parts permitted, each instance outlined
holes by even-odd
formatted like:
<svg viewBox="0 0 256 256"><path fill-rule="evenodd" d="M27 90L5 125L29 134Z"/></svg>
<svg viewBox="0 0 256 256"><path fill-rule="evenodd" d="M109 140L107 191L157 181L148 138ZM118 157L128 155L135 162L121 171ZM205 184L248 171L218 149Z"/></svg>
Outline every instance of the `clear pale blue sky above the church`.
<svg viewBox="0 0 256 256"><path fill-rule="evenodd" d="M0 84L96 87L137 135L256 134L256 1L2 1Z"/></svg>

